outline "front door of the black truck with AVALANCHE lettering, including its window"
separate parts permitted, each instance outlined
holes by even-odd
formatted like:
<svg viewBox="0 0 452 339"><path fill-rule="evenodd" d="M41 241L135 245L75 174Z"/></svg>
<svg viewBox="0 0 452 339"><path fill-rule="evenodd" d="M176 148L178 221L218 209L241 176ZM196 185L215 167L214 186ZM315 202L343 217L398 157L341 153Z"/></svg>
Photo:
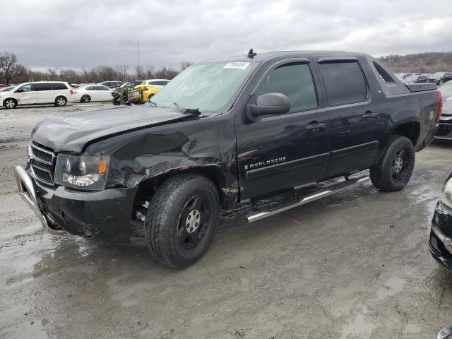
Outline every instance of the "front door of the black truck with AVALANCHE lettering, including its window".
<svg viewBox="0 0 452 339"><path fill-rule="evenodd" d="M328 162L328 112L319 107L309 63L275 64L263 75L249 104L264 93L283 93L291 108L256 122L237 117L242 201L316 182Z"/></svg>

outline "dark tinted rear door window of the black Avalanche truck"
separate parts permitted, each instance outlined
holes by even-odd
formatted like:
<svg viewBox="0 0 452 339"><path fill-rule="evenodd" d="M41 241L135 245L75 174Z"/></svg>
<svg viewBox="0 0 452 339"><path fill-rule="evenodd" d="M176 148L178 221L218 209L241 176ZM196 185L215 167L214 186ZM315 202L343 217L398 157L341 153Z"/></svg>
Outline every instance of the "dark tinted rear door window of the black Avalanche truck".
<svg viewBox="0 0 452 339"><path fill-rule="evenodd" d="M356 61L320 64L320 72L330 105L366 100L367 83Z"/></svg>

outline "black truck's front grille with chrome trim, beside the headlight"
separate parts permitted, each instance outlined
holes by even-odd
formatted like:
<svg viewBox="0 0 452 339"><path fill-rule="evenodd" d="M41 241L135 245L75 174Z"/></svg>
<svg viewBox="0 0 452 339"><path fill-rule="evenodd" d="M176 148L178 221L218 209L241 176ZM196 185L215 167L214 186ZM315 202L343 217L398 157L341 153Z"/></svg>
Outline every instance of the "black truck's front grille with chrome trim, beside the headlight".
<svg viewBox="0 0 452 339"><path fill-rule="evenodd" d="M54 186L55 153L30 142L29 157L30 169L37 182Z"/></svg>

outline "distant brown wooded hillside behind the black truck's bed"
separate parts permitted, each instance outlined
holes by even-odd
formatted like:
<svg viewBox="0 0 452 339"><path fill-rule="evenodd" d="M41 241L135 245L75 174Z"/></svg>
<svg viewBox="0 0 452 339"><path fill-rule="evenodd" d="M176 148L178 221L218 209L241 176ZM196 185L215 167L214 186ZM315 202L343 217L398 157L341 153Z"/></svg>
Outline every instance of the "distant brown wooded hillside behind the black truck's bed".
<svg viewBox="0 0 452 339"><path fill-rule="evenodd" d="M387 55L379 60L396 73L435 73L452 71L452 52Z"/></svg>

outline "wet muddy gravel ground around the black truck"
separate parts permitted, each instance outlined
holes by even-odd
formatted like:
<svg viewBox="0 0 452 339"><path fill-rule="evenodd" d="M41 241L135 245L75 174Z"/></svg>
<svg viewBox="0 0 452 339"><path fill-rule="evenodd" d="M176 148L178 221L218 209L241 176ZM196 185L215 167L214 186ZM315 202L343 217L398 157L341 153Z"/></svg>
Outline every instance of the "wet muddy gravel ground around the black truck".
<svg viewBox="0 0 452 339"><path fill-rule="evenodd" d="M417 153L398 193L368 182L250 225L225 215L206 256L171 270L138 238L47 234L16 194L32 126L95 107L0 109L0 338L424 339L452 326L452 275L427 245L452 145Z"/></svg>

